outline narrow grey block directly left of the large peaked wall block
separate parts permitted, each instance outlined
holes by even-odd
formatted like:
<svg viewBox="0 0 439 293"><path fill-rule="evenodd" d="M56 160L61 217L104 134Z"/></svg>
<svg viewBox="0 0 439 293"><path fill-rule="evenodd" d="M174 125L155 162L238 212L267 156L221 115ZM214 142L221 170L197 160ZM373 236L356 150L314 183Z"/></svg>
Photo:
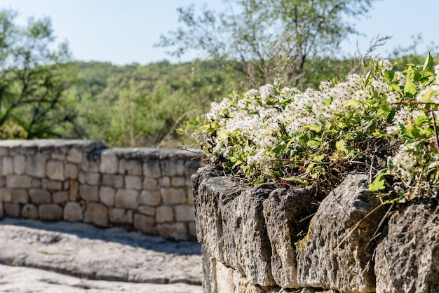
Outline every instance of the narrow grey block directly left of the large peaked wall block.
<svg viewBox="0 0 439 293"><path fill-rule="evenodd" d="M271 273L283 288L300 287L294 243L308 231L311 215L324 195L316 189L276 189L264 201L264 219L271 243Z"/></svg>

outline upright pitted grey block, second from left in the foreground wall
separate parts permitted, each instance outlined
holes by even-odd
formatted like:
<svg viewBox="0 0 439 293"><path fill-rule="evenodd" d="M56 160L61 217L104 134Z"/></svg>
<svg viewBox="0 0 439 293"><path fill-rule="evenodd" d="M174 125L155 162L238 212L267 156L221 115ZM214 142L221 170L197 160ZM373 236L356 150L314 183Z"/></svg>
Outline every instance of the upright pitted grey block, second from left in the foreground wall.
<svg viewBox="0 0 439 293"><path fill-rule="evenodd" d="M222 225L226 261L253 284L275 285L271 274L271 246L263 203L274 186L262 184L223 203Z"/></svg>

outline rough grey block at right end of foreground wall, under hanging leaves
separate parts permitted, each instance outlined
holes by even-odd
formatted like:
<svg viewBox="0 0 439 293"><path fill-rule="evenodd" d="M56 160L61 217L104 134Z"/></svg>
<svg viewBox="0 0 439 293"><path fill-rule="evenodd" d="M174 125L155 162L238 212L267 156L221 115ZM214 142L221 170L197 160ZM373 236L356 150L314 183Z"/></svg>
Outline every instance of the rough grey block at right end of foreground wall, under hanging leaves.
<svg viewBox="0 0 439 293"><path fill-rule="evenodd" d="M375 250L377 292L437 292L439 288L439 209L418 200L389 220Z"/></svg>

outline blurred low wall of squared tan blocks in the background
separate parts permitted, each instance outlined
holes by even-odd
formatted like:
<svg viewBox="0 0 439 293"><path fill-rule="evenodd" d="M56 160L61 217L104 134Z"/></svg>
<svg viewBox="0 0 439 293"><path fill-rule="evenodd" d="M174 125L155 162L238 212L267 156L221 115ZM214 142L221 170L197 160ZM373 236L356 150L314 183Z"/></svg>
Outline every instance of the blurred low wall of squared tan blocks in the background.
<svg viewBox="0 0 439 293"><path fill-rule="evenodd" d="M194 239L199 154L107 148L102 141L0 141L0 217L124 226Z"/></svg>

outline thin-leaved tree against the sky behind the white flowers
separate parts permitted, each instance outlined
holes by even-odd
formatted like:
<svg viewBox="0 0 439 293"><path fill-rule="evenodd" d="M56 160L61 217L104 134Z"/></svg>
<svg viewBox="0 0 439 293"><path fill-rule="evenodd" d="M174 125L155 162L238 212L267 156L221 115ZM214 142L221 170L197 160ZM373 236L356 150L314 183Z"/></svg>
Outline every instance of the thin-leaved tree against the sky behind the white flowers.
<svg viewBox="0 0 439 293"><path fill-rule="evenodd" d="M374 0L225 0L222 13L203 7L179 8L179 27L156 46L180 57L198 50L205 57L239 71L250 86L278 83L297 86L316 64L333 55L349 34L349 19L369 11Z"/></svg>

